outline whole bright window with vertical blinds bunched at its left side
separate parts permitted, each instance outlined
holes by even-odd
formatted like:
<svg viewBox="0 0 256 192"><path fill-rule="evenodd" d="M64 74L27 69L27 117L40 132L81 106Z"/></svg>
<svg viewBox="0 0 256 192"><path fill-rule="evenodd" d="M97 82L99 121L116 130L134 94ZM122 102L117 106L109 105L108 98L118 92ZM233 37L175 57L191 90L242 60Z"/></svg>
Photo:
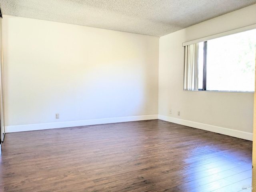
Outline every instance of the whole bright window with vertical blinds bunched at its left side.
<svg viewBox="0 0 256 192"><path fill-rule="evenodd" d="M254 91L256 29L185 47L184 90Z"/></svg>

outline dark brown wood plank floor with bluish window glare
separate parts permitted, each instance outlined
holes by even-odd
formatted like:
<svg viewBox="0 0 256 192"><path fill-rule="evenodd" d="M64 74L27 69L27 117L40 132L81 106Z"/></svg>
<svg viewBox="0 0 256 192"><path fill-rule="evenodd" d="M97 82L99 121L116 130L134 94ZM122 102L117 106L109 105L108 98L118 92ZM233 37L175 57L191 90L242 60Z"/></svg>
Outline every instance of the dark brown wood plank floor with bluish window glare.
<svg viewBox="0 0 256 192"><path fill-rule="evenodd" d="M148 120L6 134L4 192L238 192L252 142Z"/></svg>

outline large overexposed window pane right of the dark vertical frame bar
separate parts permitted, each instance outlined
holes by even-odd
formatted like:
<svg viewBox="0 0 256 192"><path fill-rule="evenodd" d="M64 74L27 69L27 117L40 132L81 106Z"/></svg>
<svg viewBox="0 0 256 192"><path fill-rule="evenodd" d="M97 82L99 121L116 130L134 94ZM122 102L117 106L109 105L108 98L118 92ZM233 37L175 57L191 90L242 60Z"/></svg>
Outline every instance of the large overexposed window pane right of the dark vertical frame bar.
<svg viewBox="0 0 256 192"><path fill-rule="evenodd" d="M208 40L206 90L254 91L255 56L256 30Z"/></svg>

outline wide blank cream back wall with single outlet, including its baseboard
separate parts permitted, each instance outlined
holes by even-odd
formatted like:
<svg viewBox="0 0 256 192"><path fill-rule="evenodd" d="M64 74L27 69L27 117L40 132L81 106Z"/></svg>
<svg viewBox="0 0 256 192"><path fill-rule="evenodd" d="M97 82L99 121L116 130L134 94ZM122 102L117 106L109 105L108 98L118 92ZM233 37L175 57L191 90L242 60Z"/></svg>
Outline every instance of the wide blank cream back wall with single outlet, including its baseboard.
<svg viewBox="0 0 256 192"><path fill-rule="evenodd" d="M159 38L7 15L2 30L7 132L158 117Z"/></svg>

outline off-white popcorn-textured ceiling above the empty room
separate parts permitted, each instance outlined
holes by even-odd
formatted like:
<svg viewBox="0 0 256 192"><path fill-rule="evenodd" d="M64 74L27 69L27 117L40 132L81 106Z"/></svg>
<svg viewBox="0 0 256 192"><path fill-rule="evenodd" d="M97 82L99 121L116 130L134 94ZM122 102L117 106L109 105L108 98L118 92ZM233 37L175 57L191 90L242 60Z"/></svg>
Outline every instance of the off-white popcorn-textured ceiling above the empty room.
<svg viewBox="0 0 256 192"><path fill-rule="evenodd" d="M256 0L0 0L2 14L163 36Z"/></svg>

